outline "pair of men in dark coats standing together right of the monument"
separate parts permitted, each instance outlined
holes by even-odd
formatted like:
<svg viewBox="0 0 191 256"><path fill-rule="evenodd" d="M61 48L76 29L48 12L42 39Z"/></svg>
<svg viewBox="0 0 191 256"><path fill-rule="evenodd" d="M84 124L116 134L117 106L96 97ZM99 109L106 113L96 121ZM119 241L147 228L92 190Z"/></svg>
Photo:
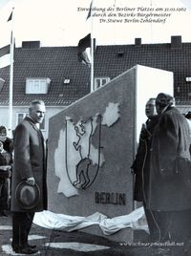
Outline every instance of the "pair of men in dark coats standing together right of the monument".
<svg viewBox="0 0 191 256"><path fill-rule="evenodd" d="M142 202L151 242L187 242L191 237L191 125L173 96L146 103L138 153L132 164L135 201Z"/></svg>

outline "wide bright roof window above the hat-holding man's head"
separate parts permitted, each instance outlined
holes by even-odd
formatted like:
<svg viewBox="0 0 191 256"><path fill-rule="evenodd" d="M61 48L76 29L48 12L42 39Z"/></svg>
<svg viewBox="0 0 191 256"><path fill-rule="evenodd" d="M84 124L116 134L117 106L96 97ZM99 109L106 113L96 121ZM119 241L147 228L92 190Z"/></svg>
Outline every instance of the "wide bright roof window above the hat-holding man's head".
<svg viewBox="0 0 191 256"><path fill-rule="evenodd" d="M26 94L40 94L48 93L50 78L27 78L26 79Z"/></svg>

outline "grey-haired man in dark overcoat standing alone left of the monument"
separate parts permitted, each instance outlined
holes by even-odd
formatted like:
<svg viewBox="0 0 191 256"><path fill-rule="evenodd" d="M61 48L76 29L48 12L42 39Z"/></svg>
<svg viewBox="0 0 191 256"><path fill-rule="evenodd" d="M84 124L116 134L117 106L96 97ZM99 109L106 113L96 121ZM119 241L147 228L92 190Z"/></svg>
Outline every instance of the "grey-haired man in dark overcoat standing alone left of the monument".
<svg viewBox="0 0 191 256"><path fill-rule="evenodd" d="M39 124L45 115L45 104L42 100L33 100L30 116L18 124L14 132L14 161L11 183L12 211L12 249L17 253L32 254L37 250L35 245L28 244L28 235L32 226L34 212L47 209L46 156L44 139ZM21 181L39 187L38 203L26 209L15 197Z"/></svg>

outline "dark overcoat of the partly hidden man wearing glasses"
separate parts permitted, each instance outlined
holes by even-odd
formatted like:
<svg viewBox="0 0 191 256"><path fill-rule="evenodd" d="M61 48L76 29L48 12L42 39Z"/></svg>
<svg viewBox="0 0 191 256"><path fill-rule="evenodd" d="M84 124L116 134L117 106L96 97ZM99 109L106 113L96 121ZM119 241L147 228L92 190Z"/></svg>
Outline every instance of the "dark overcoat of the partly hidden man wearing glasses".
<svg viewBox="0 0 191 256"><path fill-rule="evenodd" d="M150 149L152 136L157 123L157 116L147 119L146 128L140 132L136 159L131 166L135 174L134 200L138 202L146 202L148 197Z"/></svg>

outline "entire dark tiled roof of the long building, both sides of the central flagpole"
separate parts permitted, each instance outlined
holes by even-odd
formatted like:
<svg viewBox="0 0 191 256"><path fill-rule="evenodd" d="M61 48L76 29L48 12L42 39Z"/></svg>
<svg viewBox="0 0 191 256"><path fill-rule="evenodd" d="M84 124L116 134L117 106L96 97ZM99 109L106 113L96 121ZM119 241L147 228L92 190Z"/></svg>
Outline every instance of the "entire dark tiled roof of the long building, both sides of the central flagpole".
<svg viewBox="0 0 191 256"><path fill-rule="evenodd" d="M172 49L171 44L96 47L95 76L114 78L137 64L174 72L176 101L189 103L191 82L186 82L185 77L191 77L191 43L182 43L180 49ZM0 105L8 105L9 67L0 70L0 77L6 81L0 92ZM90 68L77 61L76 47L16 48L13 77L14 106L29 105L39 97L47 106L70 105L90 92ZM51 78L48 94L26 95L27 77ZM65 78L71 82L64 84Z"/></svg>

